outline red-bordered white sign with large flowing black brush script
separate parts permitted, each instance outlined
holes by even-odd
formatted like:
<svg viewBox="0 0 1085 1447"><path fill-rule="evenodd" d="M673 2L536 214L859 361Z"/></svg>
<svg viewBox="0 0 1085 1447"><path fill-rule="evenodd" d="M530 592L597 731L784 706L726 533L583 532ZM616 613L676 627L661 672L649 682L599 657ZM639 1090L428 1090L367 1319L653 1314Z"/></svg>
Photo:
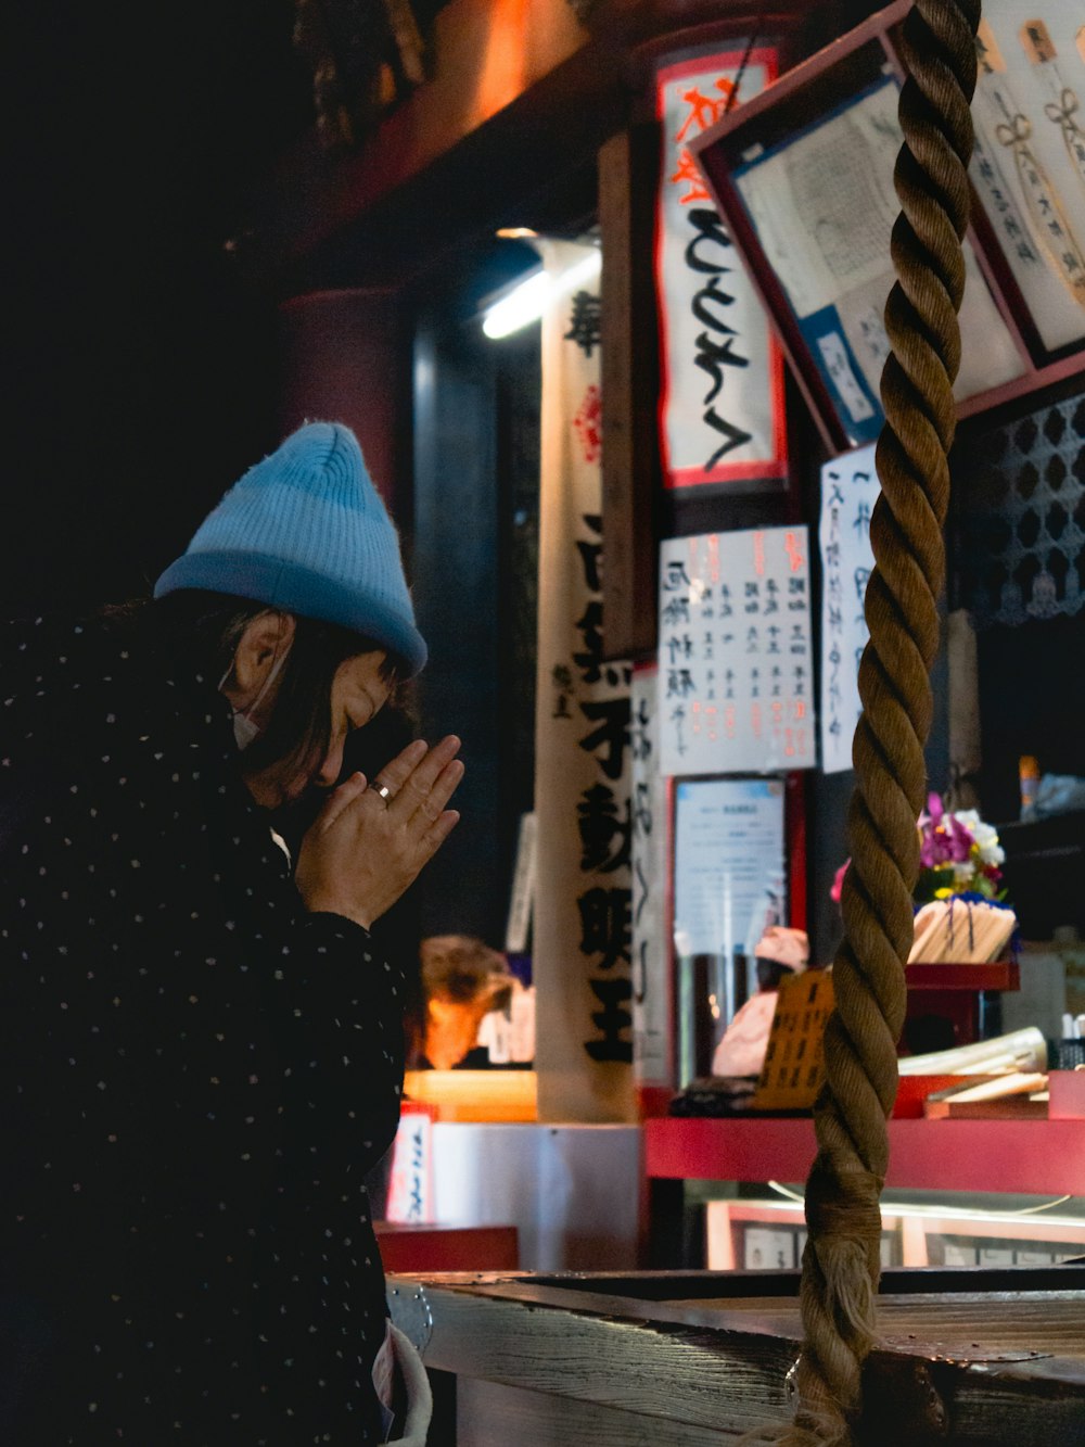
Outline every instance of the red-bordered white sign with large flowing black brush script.
<svg viewBox="0 0 1085 1447"><path fill-rule="evenodd" d="M742 100L775 78L775 61L771 49L749 54ZM689 149L728 109L741 65L735 51L657 75L660 440L671 488L787 476L783 357Z"/></svg>

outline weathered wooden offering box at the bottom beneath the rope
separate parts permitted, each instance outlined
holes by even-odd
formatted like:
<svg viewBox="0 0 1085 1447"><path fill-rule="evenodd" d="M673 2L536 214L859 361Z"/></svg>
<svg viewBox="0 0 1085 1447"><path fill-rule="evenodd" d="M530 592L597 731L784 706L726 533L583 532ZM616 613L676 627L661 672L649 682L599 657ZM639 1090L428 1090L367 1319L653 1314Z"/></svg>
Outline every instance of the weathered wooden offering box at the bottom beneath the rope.
<svg viewBox="0 0 1085 1447"><path fill-rule="evenodd" d="M783 1424L797 1292L797 1272L389 1279L393 1321L454 1378L434 1447L722 1447ZM878 1447L1085 1440L1085 1266L890 1270L880 1311Z"/></svg>

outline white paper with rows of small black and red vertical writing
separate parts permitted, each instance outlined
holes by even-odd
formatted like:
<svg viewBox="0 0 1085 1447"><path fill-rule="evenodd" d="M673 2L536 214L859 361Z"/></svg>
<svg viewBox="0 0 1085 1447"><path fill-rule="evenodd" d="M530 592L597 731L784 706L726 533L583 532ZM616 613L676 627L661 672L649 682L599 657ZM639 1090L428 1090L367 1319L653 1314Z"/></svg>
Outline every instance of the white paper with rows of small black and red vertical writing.
<svg viewBox="0 0 1085 1447"><path fill-rule="evenodd" d="M668 538L660 550L660 767L814 764L806 527Z"/></svg>

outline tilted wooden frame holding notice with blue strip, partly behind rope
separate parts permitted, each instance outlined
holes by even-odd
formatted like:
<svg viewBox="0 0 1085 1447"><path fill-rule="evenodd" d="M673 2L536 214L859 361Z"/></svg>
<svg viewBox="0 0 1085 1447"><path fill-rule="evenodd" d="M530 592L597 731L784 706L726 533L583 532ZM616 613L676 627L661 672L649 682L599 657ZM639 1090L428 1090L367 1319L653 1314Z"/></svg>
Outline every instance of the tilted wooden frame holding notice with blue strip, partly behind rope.
<svg viewBox="0 0 1085 1447"><path fill-rule="evenodd" d="M890 213L898 210L891 126L909 10L909 0L895 0L692 146L833 454L872 441L882 421L877 382L887 343L878 328L891 285ZM846 224L833 230L833 214ZM1058 352L1042 344L975 195L974 217L961 417L1085 369L1085 334Z"/></svg>

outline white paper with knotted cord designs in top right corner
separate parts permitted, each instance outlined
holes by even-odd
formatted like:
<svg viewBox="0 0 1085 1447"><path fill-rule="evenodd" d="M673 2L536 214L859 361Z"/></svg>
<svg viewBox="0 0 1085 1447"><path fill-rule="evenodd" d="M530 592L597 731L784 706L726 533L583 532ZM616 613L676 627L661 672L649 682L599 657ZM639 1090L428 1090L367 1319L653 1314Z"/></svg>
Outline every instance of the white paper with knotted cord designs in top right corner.
<svg viewBox="0 0 1085 1447"><path fill-rule="evenodd" d="M1081 7L1001 0L979 22L971 177L1040 340L1085 341Z"/></svg>

